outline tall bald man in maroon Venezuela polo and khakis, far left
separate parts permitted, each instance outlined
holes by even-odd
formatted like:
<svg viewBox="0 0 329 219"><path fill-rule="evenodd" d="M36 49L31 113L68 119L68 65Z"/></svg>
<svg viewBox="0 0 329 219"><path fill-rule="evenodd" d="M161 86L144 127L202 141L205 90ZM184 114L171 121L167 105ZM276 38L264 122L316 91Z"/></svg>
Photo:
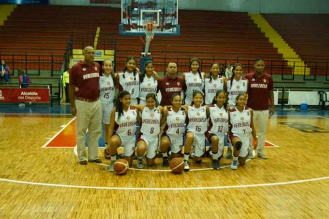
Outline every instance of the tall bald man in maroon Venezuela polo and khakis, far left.
<svg viewBox="0 0 329 219"><path fill-rule="evenodd" d="M88 129L88 160L102 163L98 158L98 139L101 136L102 107L99 100L100 64L94 62L95 50L91 46L83 50L84 60L71 68L71 114L76 116L77 153L79 163L87 165L85 135Z"/></svg>

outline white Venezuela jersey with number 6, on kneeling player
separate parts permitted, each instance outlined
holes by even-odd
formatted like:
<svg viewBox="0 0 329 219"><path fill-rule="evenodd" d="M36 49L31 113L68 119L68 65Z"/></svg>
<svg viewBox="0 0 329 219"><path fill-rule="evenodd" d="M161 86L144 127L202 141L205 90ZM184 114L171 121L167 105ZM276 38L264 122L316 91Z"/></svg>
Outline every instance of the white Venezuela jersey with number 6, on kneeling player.
<svg viewBox="0 0 329 219"><path fill-rule="evenodd" d="M114 132L118 135L135 135L137 122L137 112L134 107L129 107L128 111L123 111L119 117L119 112L115 112Z"/></svg>

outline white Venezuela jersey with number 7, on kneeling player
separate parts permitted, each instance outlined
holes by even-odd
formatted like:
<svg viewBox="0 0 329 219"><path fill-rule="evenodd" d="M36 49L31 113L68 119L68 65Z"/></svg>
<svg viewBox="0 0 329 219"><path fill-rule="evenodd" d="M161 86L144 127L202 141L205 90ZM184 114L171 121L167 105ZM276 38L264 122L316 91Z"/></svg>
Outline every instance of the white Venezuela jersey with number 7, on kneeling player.
<svg viewBox="0 0 329 219"><path fill-rule="evenodd" d="M230 110L231 132L233 134L245 134L252 131L250 127L251 114L248 107L244 107L240 112L237 108Z"/></svg>

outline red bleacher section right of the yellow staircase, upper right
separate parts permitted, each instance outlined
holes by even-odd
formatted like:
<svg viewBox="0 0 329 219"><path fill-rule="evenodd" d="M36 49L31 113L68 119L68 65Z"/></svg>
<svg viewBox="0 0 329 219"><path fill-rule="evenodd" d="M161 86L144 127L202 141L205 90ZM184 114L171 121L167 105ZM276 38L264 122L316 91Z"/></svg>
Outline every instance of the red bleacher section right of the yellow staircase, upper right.
<svg viewBox="0 0 329 219"><path fill-rule="evenodd" d="M329 59L328 14L263 14L311 73L326 74Z"/></svg>

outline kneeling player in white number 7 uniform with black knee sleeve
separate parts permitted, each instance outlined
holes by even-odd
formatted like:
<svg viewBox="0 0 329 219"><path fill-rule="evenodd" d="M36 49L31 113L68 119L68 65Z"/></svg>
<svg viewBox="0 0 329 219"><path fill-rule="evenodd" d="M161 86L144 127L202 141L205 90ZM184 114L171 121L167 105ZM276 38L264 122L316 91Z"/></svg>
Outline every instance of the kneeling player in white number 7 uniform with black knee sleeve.
<svg viewBox="0 0 329 219"><path fill-rule="evenodd" d="M244 165L248 156L250 144L250 132L253 134L255 146L257 148L257 137L253 123L253 110L246 107L246 96L239 94L236 102L237 106L229 111L230 140L234 147L232 170L238 169L238 159L241 166Z"/></svg>

